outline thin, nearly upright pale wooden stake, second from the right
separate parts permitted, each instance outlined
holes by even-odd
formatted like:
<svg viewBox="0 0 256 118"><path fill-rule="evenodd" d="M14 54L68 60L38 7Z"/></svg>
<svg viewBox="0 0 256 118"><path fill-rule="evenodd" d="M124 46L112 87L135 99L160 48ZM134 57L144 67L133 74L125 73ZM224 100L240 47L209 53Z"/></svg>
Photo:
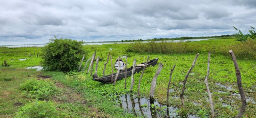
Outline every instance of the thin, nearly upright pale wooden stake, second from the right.
<svg viewBox="0 0 256 118"><path fill-rule="evenodd" d="M204 81L205 81L207 93L208 93L210 104L211 104L211 117L214 118L214 107L213 107L213 102L212 102L212 98L211 98L211 92L210 92L208 81L207 81L207 79L209 77L209 71L210 71L210 56L211 56L211 51L208 53L207 75L206 75Z"/></svg>

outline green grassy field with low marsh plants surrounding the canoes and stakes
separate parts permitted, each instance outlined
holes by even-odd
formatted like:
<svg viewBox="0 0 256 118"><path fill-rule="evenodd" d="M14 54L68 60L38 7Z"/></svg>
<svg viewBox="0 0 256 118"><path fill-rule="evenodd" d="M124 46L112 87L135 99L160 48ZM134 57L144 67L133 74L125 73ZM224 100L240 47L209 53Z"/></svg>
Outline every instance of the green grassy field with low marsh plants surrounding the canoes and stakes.
<svg viewBox="0 0 256 118"><path fill-rule="evenodd" d="M164 43L164 42L162 42ZM186 42L190 47L195 47L197 50L193 52L174 52L166 53L164 48L163 52L152 52L144 50L138 50L140 47L147 45L147 43L135 43L135 44L111 44L111 45L86 45L84 49L87 54L85 61L92 56L96 51L96 57L100 57L98 76L102 77L102 71L104 63L107 59L108 52L111 52L113 61L119 56L123 57L127 54L128 67L132 66L133 59L136 58L137 64L145 62L147 55L150 59L159 58L158 63L163 64L163 69L157 78L155 98L161 104L166 104L166 92L167 85L170 76L170 69L176 64L176 68L173 72L173 78L171 81L170 89L172 89L169 98L169 105L177 108L175 113L181 112L181 102L179 94L181 93L182 83L186 72L190 68L195 56L196 51L199 51L200 55L197 59L196 65L190 72L186 83L185 89L185 105L186 112L190 115L197 115L199 117L210 116L210 104L208 102L208 95L204 83L204 79L207 73L207 58L208 51L207 46L215 47L215 52L221 51L221 47L229 47L230 45L237 45L240 42L235 39L210 39L197 42ZM253 46L256 44L252 42ZM152 44L153 45L153 44ZM181 44L183 45L183 43ZM137 49L136 49L137 46ZM132 49L131 49L132 47ZM204 47L204 48L198 48ZM110 48L112 50L110 50ZM248 47L247 47L248 48ZM232 49L238 52L238 49ZM245 49L246 50L246 49ZM251 50L251 49L250 49ZM63 86L57 86L60 88L59 93L50 97L50 101L53 101L56 105L56 109L61 112L60 117L143 117L136 114L127 113L126 110L119 107L120 96L129 93L131 77L127 78L127 89L124 89L125 80L117 81L116 85L102 84L96 81L92 81L92 77L83 72L55 72L55 71L36 71L35 69L28 70L27 67L38 66L43 59L40 58L42 48L30 47L30 48L0 48L0 61L7 60L9 67L0 67L0 117L14 117L15 112L24 106L25 104L34 101L33 98L27 98L24 95L20 95L22 92L20 84L25 83L29 79L38 79L39 75L49 75L51 78L43 79L44 81L52 81L56 85L58 83ZM234 51L234 52L235 52ZM252 49L252 53L255 54L255 49ZM29 54L37 54L39 57L30 56ZM244 51L241 51L244 52ZM251 55L252 53L248 53ZM26 55L27 54L27 55ZM208 83L210 91L212 93L215 116L218 118L234 117L240 108L241 100L238 98L238 88L236 84L235 69L233 61L228 54L228 50L225 53L212 53L210 59L210 75ZM235 52L236 54L236 52ZM19 59L26 59L20 61ZM125 58L123 58L125 60ZM82 67L85 64L82 64ZM241 76L242 84L246 97L248 99L247 108L244 114L246 118L255 118L256 113L256 60L255 56L249 56L248 58L239 58L237 60ZM94 63L96 64L96 63ZM142 78L140 85L140 93L142 98L149 97L150 85L152 78L156 72L158 64L155 67L149 67ZM94 65L95 67L95 65ZM88 65L86 67L87 71ZM107 64L105 75L111 74L110 62ZM95 68L94 68L95 69ZM116 71L116 70L114 70ZM95 70L94 70L95 72ZM135 84L133 92L129 93L134 98L138 98L137 86L140 73L134 75ZM10 80L6 80L10 78ZM70 95L67 93L73 93L76 95ZM72 97L71 97L72 96ZM78 98L77 98L78 97ZM77 99L73 101L65 99ZM57 100L56 100L57 99ZM59 100L60 99L60 100ZM16 102L21 102L21 106L14 106ZM165 117L166 112L162 109L156 108L157 114L161 114ZM179 117L179 116L177 116Z"/></svg>

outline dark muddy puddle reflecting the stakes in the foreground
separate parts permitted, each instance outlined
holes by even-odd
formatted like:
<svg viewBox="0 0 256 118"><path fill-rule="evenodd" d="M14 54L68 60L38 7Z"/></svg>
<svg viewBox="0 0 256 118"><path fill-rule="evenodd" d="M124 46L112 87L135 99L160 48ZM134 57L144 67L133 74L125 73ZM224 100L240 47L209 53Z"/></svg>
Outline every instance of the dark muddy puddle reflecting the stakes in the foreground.
<svg viewBox="0 0 256 118"><path fill-rule="evenodd" d="M151 101L147 98L133 98L130 94L121 95L117 101L126 113L147 118L176 118L178 108L161 105L158 101ZM188 118L199 118L195 115L188 115Z"/></svg>

